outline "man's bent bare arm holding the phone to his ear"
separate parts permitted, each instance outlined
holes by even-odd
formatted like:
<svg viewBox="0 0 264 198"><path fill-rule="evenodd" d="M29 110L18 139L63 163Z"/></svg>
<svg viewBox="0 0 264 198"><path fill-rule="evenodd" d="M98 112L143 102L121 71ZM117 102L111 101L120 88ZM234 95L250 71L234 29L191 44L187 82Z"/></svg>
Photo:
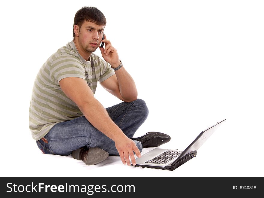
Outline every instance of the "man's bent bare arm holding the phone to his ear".
<svg viewBox="0 0 264 198"><path fill-rule="evenodd" d="M103 42L106 44L105 49L100 48L103 58L109 62L112 68L120 65L117 50L112 46L109 40L105 39ZM115 71L116 75L107 78L101 82L101 85L111 94L121 99L124 102L132 102L137 99L136 84L131 75L122 66L119 70Z"/></svg>

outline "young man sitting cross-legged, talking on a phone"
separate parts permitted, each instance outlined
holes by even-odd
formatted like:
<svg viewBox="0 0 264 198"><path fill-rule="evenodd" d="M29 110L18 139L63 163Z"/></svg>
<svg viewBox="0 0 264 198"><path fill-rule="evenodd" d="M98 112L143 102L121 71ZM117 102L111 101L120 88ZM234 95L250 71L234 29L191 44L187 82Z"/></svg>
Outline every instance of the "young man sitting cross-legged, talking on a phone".
<svg viewBox="0 0 264 198"><path fill-rule="evenodd" d="M130 165L142 148L170 141L170 136L158 132L133 138L149 111L137 99L134 80L104 35L105 25L97 8L81 8L74 17L73 40L50 56L38 72L29 127L44 154L72 154L87 165L119 155ZM101 42L104 59L93 53ZM94 98L97 82L124 102L105 109Z"/></svg>

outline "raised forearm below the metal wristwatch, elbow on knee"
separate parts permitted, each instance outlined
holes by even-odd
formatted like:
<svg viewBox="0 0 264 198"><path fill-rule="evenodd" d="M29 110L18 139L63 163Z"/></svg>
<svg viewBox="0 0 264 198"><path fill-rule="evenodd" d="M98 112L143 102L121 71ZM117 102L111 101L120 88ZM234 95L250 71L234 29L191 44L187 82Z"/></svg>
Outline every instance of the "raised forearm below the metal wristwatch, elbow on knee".
<svg viewBox="0 0 264 198"><path fill-rule="evenodd" d="M137 99L137 87L131 75L124 67L115 71L118 80L119 91L125 100L131 102Z"/></svg>

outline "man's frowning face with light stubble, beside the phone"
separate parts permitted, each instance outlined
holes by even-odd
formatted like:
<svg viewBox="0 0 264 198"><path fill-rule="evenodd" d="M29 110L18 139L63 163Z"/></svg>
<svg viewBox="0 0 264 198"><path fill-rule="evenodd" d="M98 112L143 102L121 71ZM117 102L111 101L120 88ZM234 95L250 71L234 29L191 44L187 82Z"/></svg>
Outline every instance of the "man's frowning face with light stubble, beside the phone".
<svg viewBox="0 0 264 198"><path fill-rule="evenodd" d="M104 26L85 21L81 27L75 25L74 31L78 50L81 50L82 53L93 53L101 43Z"/></svg>

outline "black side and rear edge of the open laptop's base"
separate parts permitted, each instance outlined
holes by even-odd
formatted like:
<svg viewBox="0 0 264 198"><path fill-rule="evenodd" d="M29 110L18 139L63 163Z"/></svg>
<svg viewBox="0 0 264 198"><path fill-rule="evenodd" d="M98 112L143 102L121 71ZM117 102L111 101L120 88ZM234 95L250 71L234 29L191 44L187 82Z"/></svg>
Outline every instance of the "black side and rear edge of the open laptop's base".
<svg viewBox="0 0 264 198"><path fill-rule="evenodd" d="M191 151L190 153L184 155L175 165L173 166L154 166L154 165L135 165L141 166L142 168L154 168L154 169L162 169L162 170L170 170L173 171L185 162L189 161L193 157L196 157L197 151ZM132 164L131 164L132 165ZM132 165L133 166L133 165Z"/></svg>

